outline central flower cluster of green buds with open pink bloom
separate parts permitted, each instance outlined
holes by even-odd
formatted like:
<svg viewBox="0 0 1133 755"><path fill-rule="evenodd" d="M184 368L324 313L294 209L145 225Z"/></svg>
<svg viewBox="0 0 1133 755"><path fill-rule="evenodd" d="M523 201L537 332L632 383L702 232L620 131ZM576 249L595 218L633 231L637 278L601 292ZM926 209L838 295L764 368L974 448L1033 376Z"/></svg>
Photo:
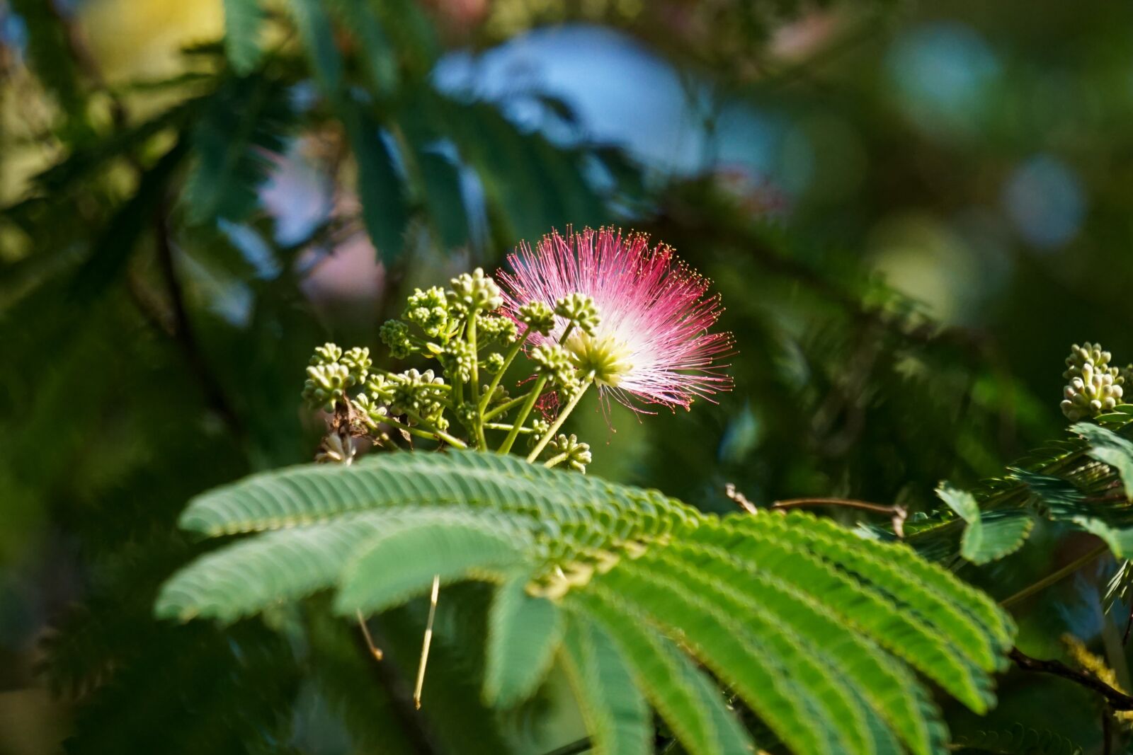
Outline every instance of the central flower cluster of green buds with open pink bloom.
<svg viewBox="0 0 1133 755"><path fill-rule="evenodd" d="M560 429L591 385L636 411L688 409L731 386L719 364L731 338L709 333L719 302L667 247L588 229L508 263L499 283L477 268L417 289L382 326L390 357L415 368L376 368L368 349L315 350L303 396L332 414L321 461L349 463L358 437L508 453L527 436L528 461L585 472L590 447Z"/></svg>

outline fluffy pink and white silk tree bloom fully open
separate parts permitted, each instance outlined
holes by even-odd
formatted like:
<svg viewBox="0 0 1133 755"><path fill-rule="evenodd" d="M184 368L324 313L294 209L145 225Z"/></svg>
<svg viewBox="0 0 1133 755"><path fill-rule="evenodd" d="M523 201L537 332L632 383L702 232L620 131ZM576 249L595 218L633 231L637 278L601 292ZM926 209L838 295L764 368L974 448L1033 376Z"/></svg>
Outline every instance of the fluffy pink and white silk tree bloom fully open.
<svg viewBox="0 0 1133 755"><path fill-rule="evenodd" d="M719 298L706 295L708 281L670 247L650 249L648 237L612 229L565 238L555 231L535 249L521 244L508 265L499 278L504 309L517 319L528 302L562 315L593 299L596 320L581 314L576 321L589 325L566 332L566 319L556 317L547 335L531 334L529 348L562 342L603 396L634 411L647 411L641 404L688 409L697 396L712 401L732 387L719 363L732 351L731 334L709 333L723 311Z"/></svg>

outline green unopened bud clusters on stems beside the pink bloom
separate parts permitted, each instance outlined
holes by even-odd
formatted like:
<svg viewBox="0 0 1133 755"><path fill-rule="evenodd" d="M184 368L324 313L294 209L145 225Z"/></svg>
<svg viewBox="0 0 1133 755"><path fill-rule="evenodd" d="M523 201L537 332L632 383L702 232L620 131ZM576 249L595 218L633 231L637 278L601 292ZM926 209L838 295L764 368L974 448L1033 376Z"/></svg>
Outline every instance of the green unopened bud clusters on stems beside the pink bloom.
<svg viewBox="0 0 1133 755"><path fill-rule="evenodd" d="M602 377L602 369L580 360L577 345L585 338L595 349L598 309L579 293L554 307L527 302L513 316L502 314L502 304L500 286L483 269L458 275L449 288L414 291L401 317L382 325L380 336L392 359L432 362L431 369L387 371L374 366L368 349L316 348L303 397L312 409L334 415L317 461L350 463L352 439L361 437L378 445L423 437L483 449L488 431L509 438L521 432L531 448L545 445L547 464L585 472L590 447L573 435L552 436L552 423L533 409L556 405L539 402L547 394L569 398ZM535 334L543 341L531 346L527 342ZM528 374L505 386L504 375L520 352L527 354ZM501 447L510 449L511 440Z"/></svg>

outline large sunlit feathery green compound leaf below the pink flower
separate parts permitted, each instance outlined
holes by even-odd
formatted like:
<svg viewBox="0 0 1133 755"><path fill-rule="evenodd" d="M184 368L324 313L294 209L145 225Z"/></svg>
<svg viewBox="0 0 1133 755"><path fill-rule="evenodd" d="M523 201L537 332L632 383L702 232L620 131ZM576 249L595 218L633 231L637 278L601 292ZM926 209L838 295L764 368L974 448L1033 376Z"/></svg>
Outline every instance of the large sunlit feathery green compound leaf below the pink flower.
<svg viewBox="0 0 1133 755"><path fill-rule="evenodd" d="M557 653L596 752L649 752L649 706L695 755L749 752L723 684L795 753L940 753L947 732L918 677L983 712L1015 632L903 543L808 514L702 514L495 454L255 474L194 499L181 525L259 534L169 580L165 617L231 621L322 590L352 616L427 594L434 575L502 585L485 698L521 702Z"/></svg>

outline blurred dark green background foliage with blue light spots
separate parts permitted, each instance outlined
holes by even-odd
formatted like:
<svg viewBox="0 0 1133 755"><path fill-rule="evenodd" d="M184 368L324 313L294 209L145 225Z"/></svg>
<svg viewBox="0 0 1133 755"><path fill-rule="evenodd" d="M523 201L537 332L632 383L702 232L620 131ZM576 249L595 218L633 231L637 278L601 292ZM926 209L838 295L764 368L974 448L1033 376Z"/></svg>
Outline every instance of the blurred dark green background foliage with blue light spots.
<svg viewBox="0 0 1133 755"><path fill-rule="evenodd" d="M1072 342L1133 361L1131 117L1127 3L0 0L0 754L570 740L561 683L478 707L475 589L416 719L420 606L381 670L314 618L305 643L151 618L198 549L186 500L312 457L313 346L381 353L414 286L552 228L639 229L713 278L736 387L588 406L591 472L710 511L730 482L925 511L1062 436ZM1082 549L1053 529L961 575L1003 597ZM1128 687L1111 568L1019 617ZM1097 752L1076 688L1003 689L994 726Z"/></svg>

